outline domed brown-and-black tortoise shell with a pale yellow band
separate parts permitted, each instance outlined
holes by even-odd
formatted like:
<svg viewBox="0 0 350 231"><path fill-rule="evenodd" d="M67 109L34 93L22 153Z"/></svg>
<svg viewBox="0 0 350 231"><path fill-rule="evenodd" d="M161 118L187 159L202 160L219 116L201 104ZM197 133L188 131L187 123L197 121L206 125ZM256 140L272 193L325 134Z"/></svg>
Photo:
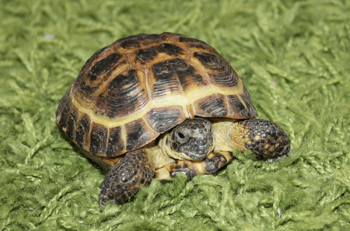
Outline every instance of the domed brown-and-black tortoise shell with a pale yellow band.
<svg viewBox="0 0 350 231"><path fill-rule="evenodd" d="M59 127L92 155L134 151L186 118L258 116L210 45L181 34L121 38L87 60L59 102Z"/></svg>

